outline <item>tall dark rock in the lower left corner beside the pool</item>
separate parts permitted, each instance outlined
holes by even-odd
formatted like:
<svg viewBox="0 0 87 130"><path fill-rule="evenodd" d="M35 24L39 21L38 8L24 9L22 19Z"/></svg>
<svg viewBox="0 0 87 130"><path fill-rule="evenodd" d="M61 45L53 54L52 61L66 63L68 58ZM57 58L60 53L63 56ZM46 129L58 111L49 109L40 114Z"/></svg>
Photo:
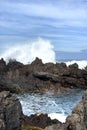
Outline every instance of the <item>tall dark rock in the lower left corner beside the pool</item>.
<svg viewBox="0 0 87 130"><path fill-rule="evenodd" d="M22 108L8 91L0 93L0 130L22 130Z"/></svg>

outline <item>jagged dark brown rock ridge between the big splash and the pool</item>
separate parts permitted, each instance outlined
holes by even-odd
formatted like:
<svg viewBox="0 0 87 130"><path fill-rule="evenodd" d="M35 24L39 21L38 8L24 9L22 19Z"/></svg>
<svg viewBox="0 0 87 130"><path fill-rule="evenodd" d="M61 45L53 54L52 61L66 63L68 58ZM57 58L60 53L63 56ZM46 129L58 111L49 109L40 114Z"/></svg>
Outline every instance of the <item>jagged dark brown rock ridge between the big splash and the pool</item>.
<svg viewBox="0 0 87 130"><path fill-rule="evenodd" d="M67 67L65 63L44 64L39 58L26 65L14 59L8 64L0 60L0 91L62 93L73 87L87 88L87 71L76 63Z"/></svg>

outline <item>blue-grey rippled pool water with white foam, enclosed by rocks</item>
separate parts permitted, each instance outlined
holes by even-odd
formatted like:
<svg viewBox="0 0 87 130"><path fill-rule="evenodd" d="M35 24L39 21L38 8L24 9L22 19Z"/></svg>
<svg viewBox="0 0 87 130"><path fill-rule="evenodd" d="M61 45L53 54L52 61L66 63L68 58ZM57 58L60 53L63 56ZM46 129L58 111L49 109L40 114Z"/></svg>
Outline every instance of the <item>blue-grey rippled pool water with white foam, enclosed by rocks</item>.
<svg viewBox="0 0 87 130"><path fill-rule="evenodd" d="M54 93L28 93L17 95L21 104L23 113L31 115L36 113L47 113L51 119L58 119L65 122L72 109L81 101L83 95L82 89L72 89L63 94Z"/></svg>

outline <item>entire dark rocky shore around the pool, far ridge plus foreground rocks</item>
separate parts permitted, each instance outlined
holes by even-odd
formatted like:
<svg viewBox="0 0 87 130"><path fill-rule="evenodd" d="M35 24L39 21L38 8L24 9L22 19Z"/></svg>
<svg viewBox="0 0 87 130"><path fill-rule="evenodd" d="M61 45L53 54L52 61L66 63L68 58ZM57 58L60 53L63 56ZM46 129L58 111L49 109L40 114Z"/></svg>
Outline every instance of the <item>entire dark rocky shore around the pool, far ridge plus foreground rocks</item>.
<svg viewBox="0 0 87 130"><path fill-rule="evenodd" d="M87 71L77 64L43 64L38 58L23 65L15 60L0 60L0 130L87 130L87 91L65 123L47 114L23 115L18 99L11 93L48 91L62 93L73 87L87 89Z"/></svg>

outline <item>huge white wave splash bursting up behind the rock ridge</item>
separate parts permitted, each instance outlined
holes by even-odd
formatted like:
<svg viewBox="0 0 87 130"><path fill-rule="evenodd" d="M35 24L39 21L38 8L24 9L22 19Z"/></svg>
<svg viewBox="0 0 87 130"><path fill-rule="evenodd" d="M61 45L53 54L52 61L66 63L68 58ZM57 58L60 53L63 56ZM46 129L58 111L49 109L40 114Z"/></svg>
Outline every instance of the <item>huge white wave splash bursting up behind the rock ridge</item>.
<svg viewBox="0 0 87 130"><path fill-rule="evenodd" d="M53 45L49 40L42 38L38 38L33 42L12 46L0 55L0 58L2 57L6 61L11 58L24 64L32 62L36 57L42 59L43 63L55 63L55 51Z"/></svg>

